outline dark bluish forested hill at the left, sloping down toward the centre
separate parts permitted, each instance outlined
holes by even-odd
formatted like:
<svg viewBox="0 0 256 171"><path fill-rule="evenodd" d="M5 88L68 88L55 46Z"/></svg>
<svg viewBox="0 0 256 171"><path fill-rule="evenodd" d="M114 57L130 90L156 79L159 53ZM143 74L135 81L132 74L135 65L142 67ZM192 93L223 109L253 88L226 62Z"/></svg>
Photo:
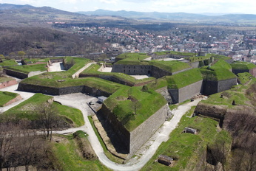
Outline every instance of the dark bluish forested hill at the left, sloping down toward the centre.
<svg viewBox="0 0 256 171"><path fill-rule="evenodd" d="M97 17L58 10L53 7L0 4L0 27L51 27L51 23L124 21L121 17Z"/></svg>

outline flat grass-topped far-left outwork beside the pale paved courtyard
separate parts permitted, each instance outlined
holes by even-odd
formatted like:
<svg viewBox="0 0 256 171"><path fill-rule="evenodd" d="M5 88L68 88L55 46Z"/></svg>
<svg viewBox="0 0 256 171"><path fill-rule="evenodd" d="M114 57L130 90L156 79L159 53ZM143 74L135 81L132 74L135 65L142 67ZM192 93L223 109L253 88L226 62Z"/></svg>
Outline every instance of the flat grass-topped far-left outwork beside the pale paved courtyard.
<svg viewBox="0 0 256 171"><path fill-rule="evenodd" d="M28 74L30 73L30 71L46 71L47 67L46 67L46 64L43 63L43 64L36 64L36 65L10 66L7 69Z"/></svg>

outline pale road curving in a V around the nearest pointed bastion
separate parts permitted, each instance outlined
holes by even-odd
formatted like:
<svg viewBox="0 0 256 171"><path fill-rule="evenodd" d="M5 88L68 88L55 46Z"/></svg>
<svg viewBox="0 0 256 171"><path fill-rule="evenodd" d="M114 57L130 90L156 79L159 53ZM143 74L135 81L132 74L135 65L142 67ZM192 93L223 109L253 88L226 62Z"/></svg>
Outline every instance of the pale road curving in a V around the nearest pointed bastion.
<svg viewBox="0 0 256 171"><path fill-rule="evenodd" d="M107 156L104 155L104 150L101 147L100 142L98 141L97 136L95 135L92 125L90 125L89 119L87 118L88 114L92 113L91 109L88 107L86 102L95 102L95 97L88 97L84 94L67 94L64 96L56 96L54 99L58 102L61 102L62 105L68 105L73 108L78 108L82 111L84 115L84 122L85 125L81 128L71 128L68 130L63 131L56 131L55 133L73 133L76 130L84 130L88 133L88 139L92 144L93 150L95 150L98 159L101 161L102 164L109 167L112 170L140 170L141 167L144 167L147 161L155 154L155 151L158 149L162 142L166 142L169 139L169 133L172 132L180 122L181 117L183 114L186 114L186 111L197 105L200 100L195 100L194 102L189 102L184 105L180 105L175 111L173 111L174 116L170 121L164 122L164 125L152 136L152 139L149 141L139 150L138 154L141 158L132 159L127 164L115 164L114 162L110 161ZM150 147L148 147L150 144Z"/></svg>

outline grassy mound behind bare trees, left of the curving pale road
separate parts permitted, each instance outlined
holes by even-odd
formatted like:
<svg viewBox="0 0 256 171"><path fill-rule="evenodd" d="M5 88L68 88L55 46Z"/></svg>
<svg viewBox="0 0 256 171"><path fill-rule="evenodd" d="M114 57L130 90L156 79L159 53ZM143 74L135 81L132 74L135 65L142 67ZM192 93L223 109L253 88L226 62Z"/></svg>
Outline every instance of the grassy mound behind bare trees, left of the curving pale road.
<svg viewBox="0 0 256 171"><path fill-rule="evenodd" d="M44 94L35 94L33 97L30 97L30 99L10 108L10 110L4 112L3 115L13 116L13 118L16 119L36 120L38 119L38 110L41 109L41 105L52 98L53 97ZM83 115L78 109L60 105L58 102L53 102L53 108L56 108L58 115L71 119L75 127L84 125Z"/></svg>

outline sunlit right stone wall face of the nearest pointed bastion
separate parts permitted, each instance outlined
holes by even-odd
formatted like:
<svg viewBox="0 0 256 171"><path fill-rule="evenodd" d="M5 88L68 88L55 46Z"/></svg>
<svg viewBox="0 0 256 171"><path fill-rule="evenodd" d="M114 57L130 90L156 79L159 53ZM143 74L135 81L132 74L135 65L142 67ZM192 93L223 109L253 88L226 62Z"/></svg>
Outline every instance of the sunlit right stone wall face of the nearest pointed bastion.
<svg viewBox="0 0 256 171"><path fill-rule="evenodd" d="M128 158L132 157L146 143L146 141L149 140L170 115L171 112L169 111L169 106L164 105L164 107L146 119L146 121L135 128L135 130L132 130L130 133Z"/></svg>

